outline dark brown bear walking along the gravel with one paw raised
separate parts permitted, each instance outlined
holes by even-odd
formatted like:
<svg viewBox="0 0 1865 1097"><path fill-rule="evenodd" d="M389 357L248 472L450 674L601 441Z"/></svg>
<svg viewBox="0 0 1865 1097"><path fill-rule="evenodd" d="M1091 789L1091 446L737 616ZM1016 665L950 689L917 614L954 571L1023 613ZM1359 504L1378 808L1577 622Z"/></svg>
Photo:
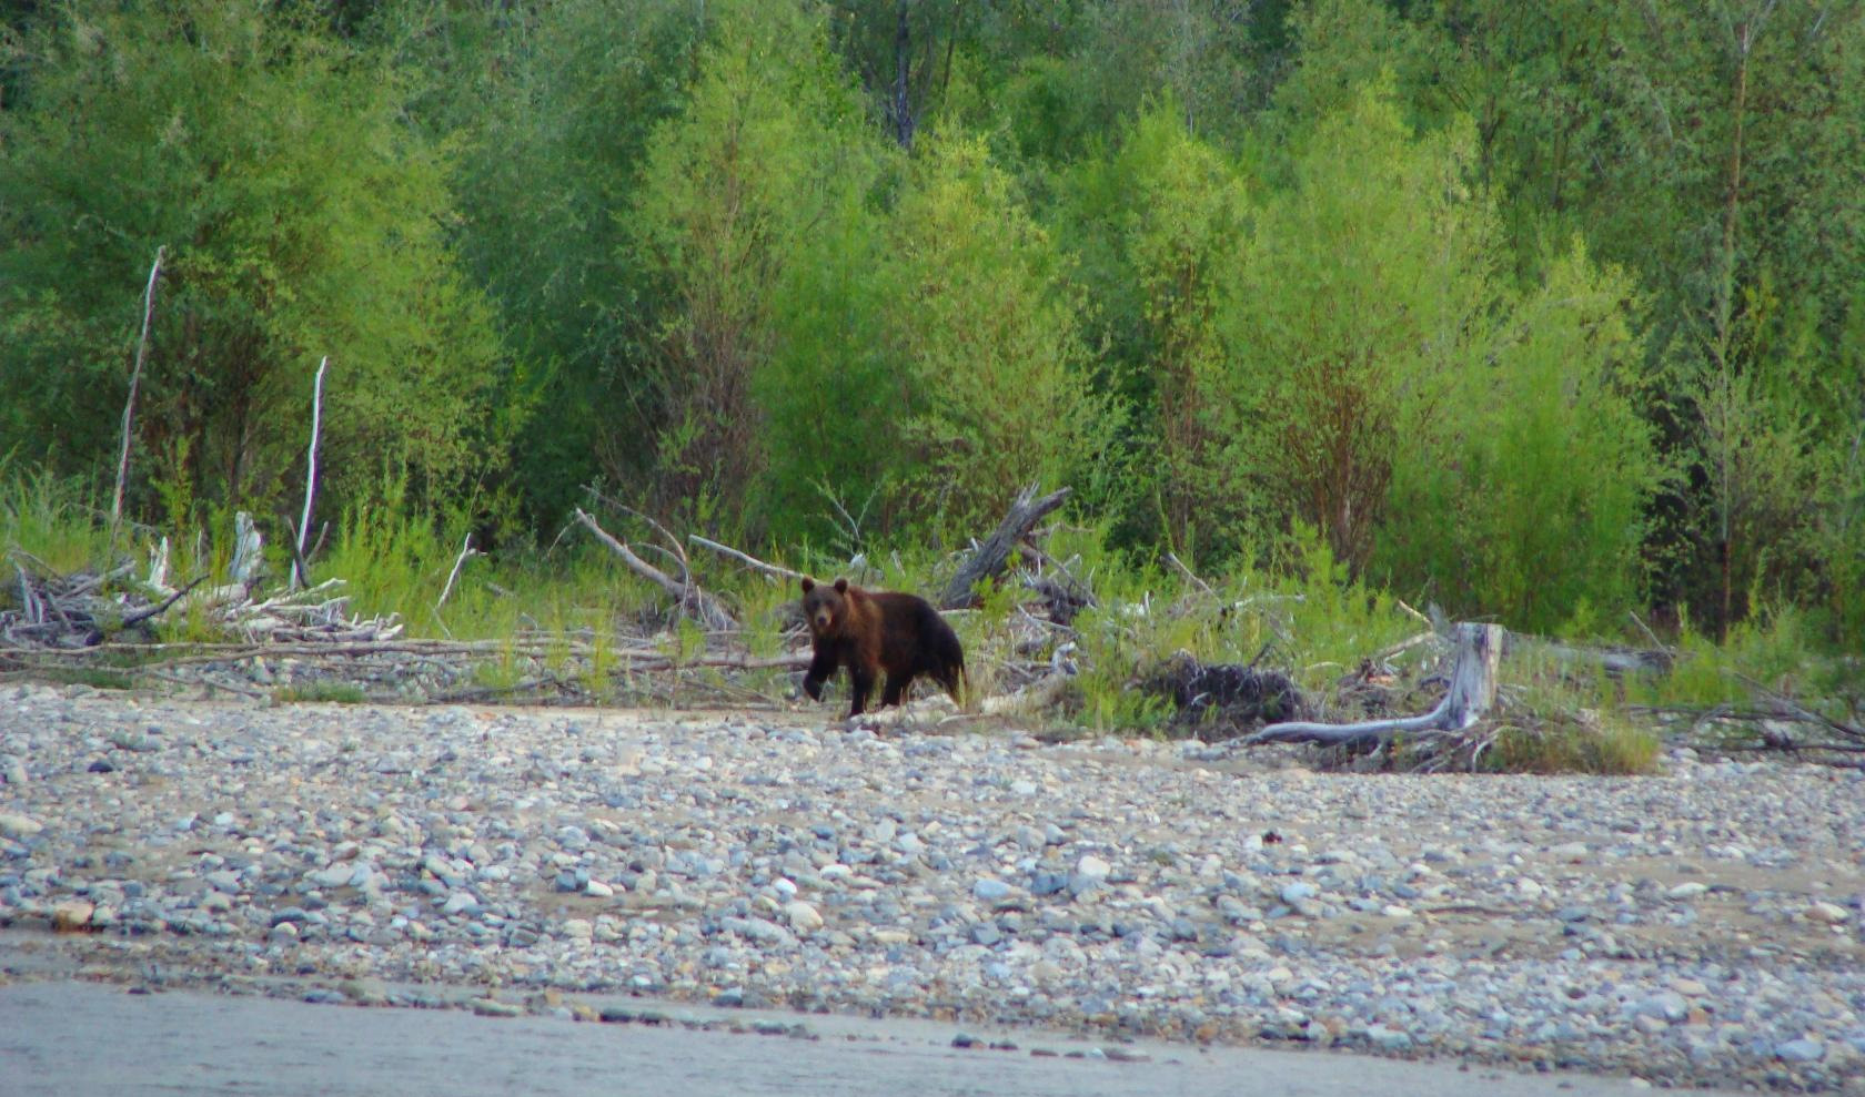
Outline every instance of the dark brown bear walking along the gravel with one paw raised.
<svg viewBox="0 0 1865 1097"><path fill-rule="evenodd" d="M918 674L932 678L953 700L960 700L964 650L957 633L925 598L893 590L869 592L847 579L822 587L804 576L804 620L809 622L809 646L815 648L815 659L804 674L804 693L811 700L822 700L822 684L843 665L849 667L854 695L850 717L867 708L877 670L888 672L888 684L880 691L882 708L906 700L906 687Z"/></svg>

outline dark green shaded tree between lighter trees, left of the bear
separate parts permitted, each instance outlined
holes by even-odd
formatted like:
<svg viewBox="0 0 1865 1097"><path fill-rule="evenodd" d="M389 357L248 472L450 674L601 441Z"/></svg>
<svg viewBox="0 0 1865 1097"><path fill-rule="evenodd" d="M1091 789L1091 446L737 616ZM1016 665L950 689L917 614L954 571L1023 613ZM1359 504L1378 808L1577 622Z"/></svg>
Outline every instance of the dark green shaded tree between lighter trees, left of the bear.
<svg viewBox="0 0 1865 1097"><path fill-rule="evenodd" d="M655 127L686 102L707 28L683 0L630 4L627 19L597 0L522 20L504 6L384 19L397 56L427 73L421 121L459 142L461 257L524 365L515 399L548 408L515 438L513 477L532 520L560 525L586 484L653 469L655 287L617 210Z"/></svg>

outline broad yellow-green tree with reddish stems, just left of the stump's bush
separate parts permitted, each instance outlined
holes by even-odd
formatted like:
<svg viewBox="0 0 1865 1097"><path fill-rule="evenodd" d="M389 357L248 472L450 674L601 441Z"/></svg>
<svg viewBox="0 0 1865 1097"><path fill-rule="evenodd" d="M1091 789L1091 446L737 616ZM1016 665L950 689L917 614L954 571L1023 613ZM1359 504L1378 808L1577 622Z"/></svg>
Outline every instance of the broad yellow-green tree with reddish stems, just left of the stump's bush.
<svg viewBox="0 0 1865 1097"><path fill-rule="evenodd" d="M1222 462L1244 469L1264 529L1313 523L1354 568L1406 520L1389 508L1395 466L1447 456L1453 399L1490 343L1499 294L1470 145L1462 129L1414 138L1389 88L1324 115L1294 147L1292 186L1255 210L1220 318Z"/></svg>

